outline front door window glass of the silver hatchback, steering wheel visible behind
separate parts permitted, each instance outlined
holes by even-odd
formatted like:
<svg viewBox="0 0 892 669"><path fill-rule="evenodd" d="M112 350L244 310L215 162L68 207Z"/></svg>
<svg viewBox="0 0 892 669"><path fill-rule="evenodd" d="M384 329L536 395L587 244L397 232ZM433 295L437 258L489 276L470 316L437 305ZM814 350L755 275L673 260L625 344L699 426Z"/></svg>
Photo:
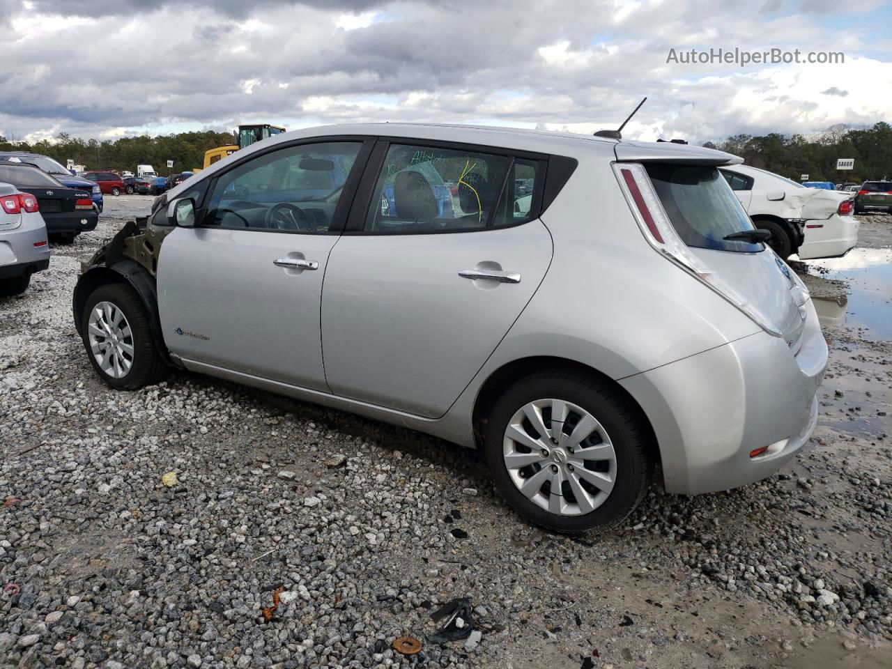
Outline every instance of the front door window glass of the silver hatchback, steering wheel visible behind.
<svg viewBox="0 0 892 669"><path fill-rule="evenodd" d="M213 186L202 227L327 232L361 146L289 146L228 170Z"/></svg>

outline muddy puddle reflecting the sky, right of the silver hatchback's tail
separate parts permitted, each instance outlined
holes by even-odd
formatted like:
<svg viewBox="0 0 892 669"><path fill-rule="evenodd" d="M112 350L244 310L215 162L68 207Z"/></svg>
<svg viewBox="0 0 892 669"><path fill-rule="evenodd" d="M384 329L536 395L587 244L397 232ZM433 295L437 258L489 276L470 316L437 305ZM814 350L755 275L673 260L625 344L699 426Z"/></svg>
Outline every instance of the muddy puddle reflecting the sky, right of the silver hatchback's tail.
<svg viewBox="0 0 892 669"><path fill-rule="evenodd" d="M892 339L892 249L853 249L797 265L807 272L822 326L863 327L866 338Z"/></svg>

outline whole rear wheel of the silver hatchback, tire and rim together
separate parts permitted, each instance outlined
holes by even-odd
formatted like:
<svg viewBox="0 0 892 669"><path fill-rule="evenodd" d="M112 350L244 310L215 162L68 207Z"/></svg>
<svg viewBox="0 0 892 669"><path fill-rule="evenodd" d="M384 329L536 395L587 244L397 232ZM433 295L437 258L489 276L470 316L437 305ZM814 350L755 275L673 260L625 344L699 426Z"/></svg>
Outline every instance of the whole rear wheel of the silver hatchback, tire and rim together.
<svg viewBox="0 0 892 669"><path fill-rule="evenodd" d="M606 531L648 488L644 434L632 411L572 372L535 374L508 388L491 411L483 448L508 504L557 532Z"/></svg>

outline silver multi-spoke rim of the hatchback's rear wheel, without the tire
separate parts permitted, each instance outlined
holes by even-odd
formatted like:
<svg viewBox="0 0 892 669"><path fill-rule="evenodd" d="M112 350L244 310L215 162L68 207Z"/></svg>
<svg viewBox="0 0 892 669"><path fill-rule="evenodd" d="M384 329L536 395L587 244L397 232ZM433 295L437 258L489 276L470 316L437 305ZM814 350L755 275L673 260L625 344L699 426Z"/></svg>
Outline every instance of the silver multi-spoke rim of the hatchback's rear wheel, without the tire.
<svg viewBox="0 0 892 669"><path fill-rule="evenodd" d="M502 457L518 491L560 516L599 508L613 491L616 453L598 420L557 399L518 409L505 430Z"/></svg>

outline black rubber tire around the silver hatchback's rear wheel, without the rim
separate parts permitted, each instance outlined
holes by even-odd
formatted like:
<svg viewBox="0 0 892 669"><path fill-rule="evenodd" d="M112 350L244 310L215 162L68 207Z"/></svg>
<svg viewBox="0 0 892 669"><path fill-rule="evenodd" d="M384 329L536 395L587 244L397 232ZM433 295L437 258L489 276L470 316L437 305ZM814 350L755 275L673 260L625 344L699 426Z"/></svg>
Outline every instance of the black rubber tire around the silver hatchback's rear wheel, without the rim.
<svg viewBox="0 0 892 669"><path fill-rule="evenodd" d="M614 488L598 508L587 514L564 516L541 508L517 489L505 467L503 442L508 422L524 405L544 398L572 402L590 412L614 445ZM509 387L490 412L483 450L493 482L508 504L534 524L560 533L605 532L615 527L638 506L650 483L651 465L645 450L645 436L634 412L615 392L574 371L542 372Z"/></svg>

